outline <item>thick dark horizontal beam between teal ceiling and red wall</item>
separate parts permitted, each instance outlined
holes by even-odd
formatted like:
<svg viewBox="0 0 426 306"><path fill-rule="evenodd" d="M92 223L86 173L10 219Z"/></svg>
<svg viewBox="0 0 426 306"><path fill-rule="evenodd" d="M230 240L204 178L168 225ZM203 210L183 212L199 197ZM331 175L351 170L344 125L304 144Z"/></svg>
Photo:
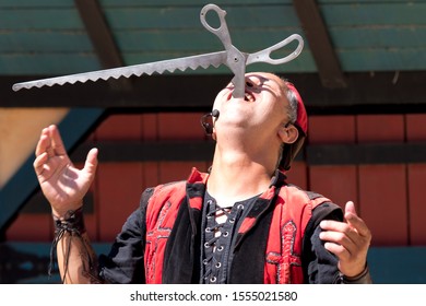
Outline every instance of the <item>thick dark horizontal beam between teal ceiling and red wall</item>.
<svg viewBox="0 0 426 306"><path fill-rule="evenodd" d="M310 115L425 113L426 71L346 74L346 89L324 89L317 73L286 74ZM103 107L122 111L206 111L229 75L151 75L133 80L130 92L106 82L12 91L12 84L38 76L0 76L0 107Z"/></svg>

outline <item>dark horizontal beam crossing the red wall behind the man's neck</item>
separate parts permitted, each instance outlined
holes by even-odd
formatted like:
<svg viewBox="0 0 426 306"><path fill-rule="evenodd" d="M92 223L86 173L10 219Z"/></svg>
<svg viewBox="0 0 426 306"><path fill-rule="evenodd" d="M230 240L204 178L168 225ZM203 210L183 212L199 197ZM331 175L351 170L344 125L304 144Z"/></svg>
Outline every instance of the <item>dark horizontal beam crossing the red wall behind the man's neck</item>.
<svg viewBox="0 0 426 306"><path fill-rule="evenodd" d="M213 141L87 141L71 153L71 160L84 162L87 152L96 146L102 152L100 163L209 162L214 144ZM307 165L426 163L426 142L306 144L296 160L306 161Z"/></svg>

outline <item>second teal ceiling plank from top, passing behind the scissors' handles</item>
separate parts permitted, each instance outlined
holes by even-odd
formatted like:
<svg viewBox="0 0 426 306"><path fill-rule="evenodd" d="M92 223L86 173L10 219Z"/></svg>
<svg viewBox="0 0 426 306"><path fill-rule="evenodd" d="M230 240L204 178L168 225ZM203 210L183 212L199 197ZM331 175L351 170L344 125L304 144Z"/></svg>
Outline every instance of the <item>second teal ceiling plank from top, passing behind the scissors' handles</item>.
<svg viewBox="0 0 426 306"><path fill-rule="evenodd" d="M234 45L244 51L257 51L281 42L294 33L304 36L304 33L296 27L262 28L259 26L236 28L232 33L232 38ZM390 48L422 50L424 48L422 37L426 36L426 27L334 28L330 30L330 36L336 50L342 52L351 49L367 52L389 50ZM223 48L222 44L213 36L206 35L203 28L164 31L134 28L116 32L115 37L123 52L139 52L141 50L165 52L167 49L180 52L190 48L194 51L213 51ZM304 50L310 50L310 44L306 44Z"/></svg>

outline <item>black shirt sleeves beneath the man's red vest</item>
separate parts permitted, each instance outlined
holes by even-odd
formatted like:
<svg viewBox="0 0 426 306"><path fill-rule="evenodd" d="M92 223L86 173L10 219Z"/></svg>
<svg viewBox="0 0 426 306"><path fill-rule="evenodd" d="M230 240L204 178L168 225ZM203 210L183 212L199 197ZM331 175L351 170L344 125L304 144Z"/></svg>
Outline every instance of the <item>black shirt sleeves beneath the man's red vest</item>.
<svg viewBox="0 0 426 306"><path fill-rule="evenodd" d="M250 203L247 204L247 207L249 205ZM327 205L329 203L320 204L312 211L312 217L305 232L301 259L306 283L340 283L342 280L338 270L336 258L323 247L323 242L319 238L319 233L321 232L319 223L321 220L341 221L343 217L340 210L332 210L330 213ZM109 255L102 255L99 257L99 275L105 282L145 282L143 262L145 247L144 233L146 227L143 222L145 220L145 209L146 207L141 205L128 217ZM244 211L242 213L245 213ZM225 255L223 258L225 259L225 264L232 261L229 255ZM216 261L212 261L212 264L215 263ZM206 270L203 271L205 273ZM217 273L216 280L220 276L218 282L226 282L226 269L222 268L220 271L222 271L222 274Z"/></svg>

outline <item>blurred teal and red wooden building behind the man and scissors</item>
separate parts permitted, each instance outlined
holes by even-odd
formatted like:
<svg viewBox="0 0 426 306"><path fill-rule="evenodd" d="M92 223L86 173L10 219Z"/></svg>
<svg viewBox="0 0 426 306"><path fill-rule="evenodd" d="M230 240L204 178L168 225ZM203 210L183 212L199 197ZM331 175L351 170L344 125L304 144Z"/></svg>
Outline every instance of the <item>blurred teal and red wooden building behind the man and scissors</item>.
<svg viewBox="0 0 426 306"><path fill-rule="evenodd" d="M241 51L304 37L292 62L247 67L287 78L305 101L308 140L288 181L356 203L376 283L426 283L426 1L402 0L0 0L0 283L59 282L47 276L54 227L32 166L44 127L59 125L78 166L100 150L85 215L106 252L144 188L209 168L200 118L232 74L12 85L223 50L200 23L208 3L226 10Z"/></svg>

